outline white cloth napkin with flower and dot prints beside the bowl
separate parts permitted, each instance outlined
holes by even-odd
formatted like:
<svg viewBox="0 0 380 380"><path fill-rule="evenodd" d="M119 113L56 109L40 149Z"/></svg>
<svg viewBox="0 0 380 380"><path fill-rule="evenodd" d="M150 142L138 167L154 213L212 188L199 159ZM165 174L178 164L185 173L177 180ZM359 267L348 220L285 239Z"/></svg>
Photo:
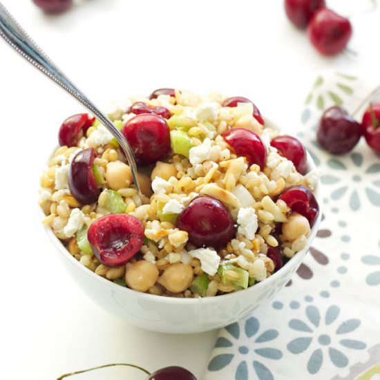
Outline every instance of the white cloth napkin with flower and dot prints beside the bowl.
<svg viewBox="0 0 380 380"><path fill-rule="evenodd" d="M363 139L330 155L315 133L325 108L353 111L371 90L339 73L316 79L297 135L323 173L318 236L272 301L220 331L205 380L380 380L380 158Z"/></svg>

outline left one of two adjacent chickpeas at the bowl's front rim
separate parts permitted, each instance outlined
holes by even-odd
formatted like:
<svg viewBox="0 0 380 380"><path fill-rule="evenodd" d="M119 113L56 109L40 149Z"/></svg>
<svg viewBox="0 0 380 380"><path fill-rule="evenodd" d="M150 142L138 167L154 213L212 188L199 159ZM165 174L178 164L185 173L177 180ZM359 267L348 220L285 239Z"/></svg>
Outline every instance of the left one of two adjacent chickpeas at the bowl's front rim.
<svg viewBox="0 0 380 380"><path fill-rule="evenodd" d="M137 292L146 292L158 279L158 269L153 263L139 260L126 265L125 282Z"/></svg>

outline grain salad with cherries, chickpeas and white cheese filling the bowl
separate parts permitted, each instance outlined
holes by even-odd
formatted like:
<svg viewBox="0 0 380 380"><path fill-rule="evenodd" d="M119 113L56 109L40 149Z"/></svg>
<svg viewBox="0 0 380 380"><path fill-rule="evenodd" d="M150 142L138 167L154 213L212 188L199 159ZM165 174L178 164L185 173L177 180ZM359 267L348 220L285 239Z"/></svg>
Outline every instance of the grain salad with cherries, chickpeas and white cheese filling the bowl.
<svg viewBox="0 0 380 380"><path fill-rule="evenodd" d="M141 193L113 135L84 113L61 124L39 200L44 225L98 276L217 296L264 281L307 245L319 173L249 99L161 88L107 114L135 153Z"/></svg>

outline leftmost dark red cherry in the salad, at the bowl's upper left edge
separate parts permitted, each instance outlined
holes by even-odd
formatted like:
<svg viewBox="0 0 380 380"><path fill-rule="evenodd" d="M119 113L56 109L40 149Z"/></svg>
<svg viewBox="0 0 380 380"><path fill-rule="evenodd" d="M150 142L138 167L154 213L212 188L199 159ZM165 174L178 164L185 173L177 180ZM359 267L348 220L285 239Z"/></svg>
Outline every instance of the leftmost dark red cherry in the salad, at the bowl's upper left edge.
<svg viewBox="0 0 380 380"><path fill-rule="evenodd" d="M59 127L58 140L61 146L77 146L80 138L86 134L95 122L95 117L88 113L78 113L68 117Z"/></svg>

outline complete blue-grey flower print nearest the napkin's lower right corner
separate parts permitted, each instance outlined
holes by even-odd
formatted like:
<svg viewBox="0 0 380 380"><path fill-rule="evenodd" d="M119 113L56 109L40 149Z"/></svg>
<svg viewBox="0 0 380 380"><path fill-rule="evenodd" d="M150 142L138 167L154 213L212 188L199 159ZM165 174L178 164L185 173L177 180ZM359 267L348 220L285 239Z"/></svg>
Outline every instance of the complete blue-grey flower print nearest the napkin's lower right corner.
<svg viewBox="0 0 380 380"><path fill-rule="evenodd" d="M307 371L310 374L316 374L321 370L323 365L324 354L328 354L330 361L338 368L348 365L348 357L332 345L342 345L344 348L352 350L363 350L366 344L362 341L354 339L343 339L345 334L356 330L361 322L359 319L350 319L343 321L336 328L334 323L339 317L340 308L332 305L327 309L325 317L321 320L321 313L314 305L306 307L307 322L301 319L292 319L289 327L297 332L302 332L305 336L299 336L287 344L287 350L292 354L301 354L306 352L310 346L314 345L307 361ZM334 331L334 334L326 334L325 332Z"/></svg>

